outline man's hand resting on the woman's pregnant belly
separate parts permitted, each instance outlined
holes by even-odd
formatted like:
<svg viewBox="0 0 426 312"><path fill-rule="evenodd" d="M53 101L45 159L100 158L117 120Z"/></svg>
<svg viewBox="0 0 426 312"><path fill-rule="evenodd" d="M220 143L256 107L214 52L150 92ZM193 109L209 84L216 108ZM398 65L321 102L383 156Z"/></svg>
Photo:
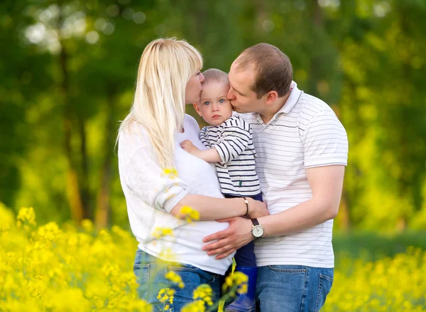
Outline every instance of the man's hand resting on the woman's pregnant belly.
<svg viewBox="0 0 426 312"><path fill-rule="evenodd" d="M254 239L251 234L253 224L249 219L235 217L222 219L218 222L229 222L229 228L206 236L202 240L204 243L217 240L202 247L202 250L207 251L207 255L217 255L217 260L231 255L239 247L247 245Z"/></svg>

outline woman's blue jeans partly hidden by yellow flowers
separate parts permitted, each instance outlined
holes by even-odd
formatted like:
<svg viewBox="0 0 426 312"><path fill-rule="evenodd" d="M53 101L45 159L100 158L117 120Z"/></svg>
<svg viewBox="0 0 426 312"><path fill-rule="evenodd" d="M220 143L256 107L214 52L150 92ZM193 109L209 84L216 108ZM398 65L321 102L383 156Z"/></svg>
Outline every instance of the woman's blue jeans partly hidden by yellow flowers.
<svg viewBox="0 0 426 312"><path fill-rule="evenodd" d="M180 275L182 282L185 284L183 289L165 279L165 274L169 271ZM164 310L165 304L170 306L171 312L179 312L186 303L194 301L192 292L201 284L209 284L212 287L213 302L219 300L219 277L222 275L203 271L190 264L164 262L138 249L133 272L136 275L136 282L139 284L138 296L152 304L153 312ZM173 303L161 303L157 299L158 291L165 288L175 289Z"/></svg>

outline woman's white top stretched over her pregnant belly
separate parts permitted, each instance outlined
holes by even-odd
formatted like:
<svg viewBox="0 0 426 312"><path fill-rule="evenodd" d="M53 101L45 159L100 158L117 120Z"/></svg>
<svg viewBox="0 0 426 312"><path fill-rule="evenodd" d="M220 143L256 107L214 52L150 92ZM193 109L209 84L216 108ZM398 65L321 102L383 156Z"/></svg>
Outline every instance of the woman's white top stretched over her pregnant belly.
<svg viewBox="0 0 426 312"><path fill-rule="evenodd" d="M119 172L126 196L131 230L138 247L148 254L174 262L192 264L216 274L224 274L234 254L222 260L201 250L202 238L228 228L228 223L197 221L190 224L170 214L173 207L187 194L223 198L214 165L182 150L180 143L191 140L205 150L200 142L197 121L185 115L184 132L175 135L175 169L178 178L164 174L143 126L134 123L135 134L120 133ZM173 236L155 238L157 228L172 228Z"/></svg>

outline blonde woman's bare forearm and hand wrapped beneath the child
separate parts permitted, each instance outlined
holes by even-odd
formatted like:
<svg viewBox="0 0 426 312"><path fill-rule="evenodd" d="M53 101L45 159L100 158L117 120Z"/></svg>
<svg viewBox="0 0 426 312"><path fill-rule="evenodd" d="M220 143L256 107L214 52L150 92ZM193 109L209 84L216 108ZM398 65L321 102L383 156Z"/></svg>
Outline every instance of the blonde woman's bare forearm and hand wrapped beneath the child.
<svg viewBox="0 0 426 312"><path fill-rule="evenodd" d="M250 197L246 197L246 199L249 203L249 218L260 218L261 216L269 215L266 204ZM170 213L176 218L183 219L185 215L181 214L180 211L184 206L189 206L198 211L200 220L204 221L244 216L247 212L244 198L219 199L217 197L187 194L173 207Z"/></svg>

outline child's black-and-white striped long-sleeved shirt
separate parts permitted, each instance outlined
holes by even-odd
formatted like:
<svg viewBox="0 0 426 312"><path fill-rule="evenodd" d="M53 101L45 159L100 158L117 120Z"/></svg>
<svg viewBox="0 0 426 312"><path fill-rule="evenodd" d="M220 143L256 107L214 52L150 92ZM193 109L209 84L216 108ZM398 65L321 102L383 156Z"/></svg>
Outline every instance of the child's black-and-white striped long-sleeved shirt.
<svg viewBox="0 0 426 312"><path fill-rule="evenodd" d="M231 116L219 126L202 128L200 140L206 147L216 148L222 160L215 164L222 194L253 196L261 192L249 123Z"/></svg>

